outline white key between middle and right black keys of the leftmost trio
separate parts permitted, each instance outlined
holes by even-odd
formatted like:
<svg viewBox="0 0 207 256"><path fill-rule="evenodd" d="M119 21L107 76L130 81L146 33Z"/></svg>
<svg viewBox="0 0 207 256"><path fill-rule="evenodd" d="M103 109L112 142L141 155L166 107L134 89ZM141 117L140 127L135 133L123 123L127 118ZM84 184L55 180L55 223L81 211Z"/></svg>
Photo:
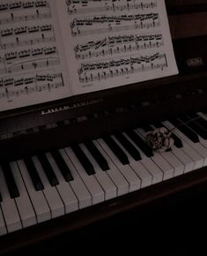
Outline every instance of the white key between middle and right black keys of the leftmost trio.
<svg viewBox="0 0 207 256"><path fill-rule="evenodd" d="M53 156L50 153L47 153L46 155L48 157L48 162L51 164L55 172L55 176L59 182L59 184L56 185L56 189L63 200L65 213L67 214L78 210L78 199L76 194L72 191L70 184L64 180L64 177Z"/></svg>

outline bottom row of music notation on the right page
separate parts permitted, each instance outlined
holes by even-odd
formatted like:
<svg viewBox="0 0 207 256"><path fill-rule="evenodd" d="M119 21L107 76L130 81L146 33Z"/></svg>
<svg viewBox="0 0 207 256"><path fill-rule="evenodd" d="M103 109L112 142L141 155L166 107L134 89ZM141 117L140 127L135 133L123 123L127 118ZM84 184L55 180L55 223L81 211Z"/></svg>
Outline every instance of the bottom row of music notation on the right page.
<svg viewBox="0 0 207 256"><path fill-rule="evenodd" d="M81 83L88 83L120 76L128 77L137 72L163 70L166 67L166 54L158 52L152 56L130 56L102 62L82 63L78 69L78 76Z"/></svg>

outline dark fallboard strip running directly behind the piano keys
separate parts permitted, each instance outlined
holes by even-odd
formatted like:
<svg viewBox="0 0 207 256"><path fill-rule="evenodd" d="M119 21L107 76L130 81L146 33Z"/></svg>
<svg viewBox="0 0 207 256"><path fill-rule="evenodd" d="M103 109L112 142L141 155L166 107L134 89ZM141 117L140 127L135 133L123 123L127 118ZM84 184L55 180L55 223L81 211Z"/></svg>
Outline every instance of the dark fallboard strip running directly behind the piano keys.
<svg viewBox="0 0 207 256"><path fill-rule="evenodd" d="M121 111L114 115L101 116L43 129L38 132L18 134L11 139L0 141L1 161L17 160L26 154L37 154L51 148L68 147L73 142L83 142L85 139L97 139L106 133L124 131L132 127L146 124L149 120L161 120L177 116L178 113L196 112L201 110L201 102L205 102L206 94L173 99L172 102L159 102L156 105ZM204 105L203 105L204 107ZM205 105L205 108L207 106Z"/></svg>

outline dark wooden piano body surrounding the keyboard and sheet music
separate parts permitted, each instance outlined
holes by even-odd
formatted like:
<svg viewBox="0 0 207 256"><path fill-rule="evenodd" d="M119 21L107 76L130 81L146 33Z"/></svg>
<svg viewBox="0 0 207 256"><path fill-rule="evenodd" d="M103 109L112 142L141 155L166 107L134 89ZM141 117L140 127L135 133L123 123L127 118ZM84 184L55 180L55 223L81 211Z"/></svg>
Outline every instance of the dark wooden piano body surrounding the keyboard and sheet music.
<svg viewBox="0 0 207 256"><path fill-rule="evenodd" d="M1 162L16 161L26 155L67 147L85 139L97 139L103 134L122 132L179 114L207 113L207 1L166 0L166 8L179 75L1 112ZM38 245L40 248L47 247L55 239L59 243L64 240L63 245L69 248L70 243L71 247L77 245L78 248L83 241L84 245L85 241L98 243L95 236L99 232L102 232L101 239L105 237L112 245L113 236L119 233L118 237L122 237L120 233L129 232L127 223L138 227L136 219L142 226L141 230L144 230L144 224L140 223L140 218L149 229L152 221L147 218L150 216L156 222L151 227L163 230L161 227L165 226L165 222L161 221L160 214L168 214L172 218L178 201L183 198L191 200L196 195L203 197L207 192L206 170L206 167L196 169L48 222L11 232L0 237L0 254L19 250L28 253L30 248L39 252ZM149 232L156 237L155 230ZM91 239L88 236L92 236ZM67 239L68 244L65 242ZM137 237L137 241L139 239L142 241ZM149 241L152 240L151 237Z"/></svg>

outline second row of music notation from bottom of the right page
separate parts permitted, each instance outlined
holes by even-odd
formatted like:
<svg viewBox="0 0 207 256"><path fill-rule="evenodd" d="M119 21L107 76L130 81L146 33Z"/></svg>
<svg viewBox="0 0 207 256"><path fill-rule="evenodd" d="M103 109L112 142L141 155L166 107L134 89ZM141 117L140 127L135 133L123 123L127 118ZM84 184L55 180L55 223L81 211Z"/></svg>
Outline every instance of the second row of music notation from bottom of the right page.
<svg viewBox="0 0 207 256"><path fill-rule="evenodd" d="M163 45L162 34L129 34L107 36L98 41L87 41L84 44L77 44L74 51L77 59L85 59L159 48Z"/></svg>

